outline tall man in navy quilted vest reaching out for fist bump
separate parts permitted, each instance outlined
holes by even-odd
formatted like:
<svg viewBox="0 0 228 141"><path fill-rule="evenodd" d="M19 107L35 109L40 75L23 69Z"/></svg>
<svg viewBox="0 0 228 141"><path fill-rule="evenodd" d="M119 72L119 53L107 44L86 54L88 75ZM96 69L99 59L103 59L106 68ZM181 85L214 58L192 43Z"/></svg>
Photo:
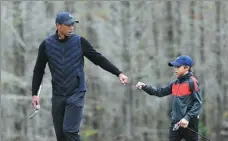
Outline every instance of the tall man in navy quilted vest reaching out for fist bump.
<svg viewBox="0 0 228 141"><path fill-rule="evenodd" d="M52 75L52 118L58 141L80 141L79 128L86 92L84 56L126 84L128 77L98 53L83 37L73 33L78 23L70 13L56 16L56 33L39 46L32 81L32 104L39 107L37 92L46 63Z"/></svg>

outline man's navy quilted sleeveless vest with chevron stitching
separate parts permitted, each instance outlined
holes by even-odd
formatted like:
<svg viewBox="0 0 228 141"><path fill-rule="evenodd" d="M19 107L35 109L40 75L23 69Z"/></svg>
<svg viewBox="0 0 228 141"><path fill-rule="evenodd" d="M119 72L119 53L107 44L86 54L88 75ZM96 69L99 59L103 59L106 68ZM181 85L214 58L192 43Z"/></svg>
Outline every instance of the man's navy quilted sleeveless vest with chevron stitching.
<svg viewBox="0 0 228 141"><path fill-rule="evenodd" d="M79 91L86 91L80 40L80 36L76 34L64 42L59 41L56 34L45 39L53 95L70 96Z"/></svg>

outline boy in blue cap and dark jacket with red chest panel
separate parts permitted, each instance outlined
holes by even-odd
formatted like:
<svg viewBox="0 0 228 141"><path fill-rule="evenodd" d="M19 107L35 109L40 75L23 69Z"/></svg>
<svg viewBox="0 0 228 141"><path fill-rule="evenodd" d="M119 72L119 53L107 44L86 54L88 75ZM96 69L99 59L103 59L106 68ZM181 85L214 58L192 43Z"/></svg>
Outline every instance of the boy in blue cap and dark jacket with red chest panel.
<svg viewBox="0 0 228 141"><path fill-rule="evenodd" d="M198 89L198 81L191 72L193 60L191 57L182 55L175 61L169 62L170 67L174 67L177 79L165 88L156 88L138 82L136 87L144 90L149 95L158 97L172 94L171 127L169 129L169 141L198 141L199 114L202 106L201 97ZM179 129L173 127L177 123ZM188 127L188 128L187 128Z"/></svg>

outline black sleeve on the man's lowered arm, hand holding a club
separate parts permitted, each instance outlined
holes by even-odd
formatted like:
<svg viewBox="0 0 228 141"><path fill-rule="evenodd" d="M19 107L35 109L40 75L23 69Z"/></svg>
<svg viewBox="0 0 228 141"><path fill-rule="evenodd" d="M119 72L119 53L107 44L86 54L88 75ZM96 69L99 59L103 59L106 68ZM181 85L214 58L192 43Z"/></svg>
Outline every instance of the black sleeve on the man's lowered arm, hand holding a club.
<svg viewBox="0 0 228 141"><path fill-rule="evenodd" d="M45 41L43 41L39 46L38 56L33 70L32 95L37 95L41 81L43 79L44 70L47 64L47 56L44 50L45 50Z"/></svg>

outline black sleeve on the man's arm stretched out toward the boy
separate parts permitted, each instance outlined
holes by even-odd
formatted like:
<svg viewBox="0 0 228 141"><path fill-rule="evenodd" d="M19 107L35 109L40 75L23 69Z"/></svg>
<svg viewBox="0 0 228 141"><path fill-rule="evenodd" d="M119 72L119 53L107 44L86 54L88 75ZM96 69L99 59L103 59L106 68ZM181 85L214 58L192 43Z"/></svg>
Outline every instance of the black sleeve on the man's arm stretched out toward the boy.
<svg viewBox="0 0 228 141"><path fill-rule="evenodd" d="M102 69L119 76L121 71L114 66L107 58L97 52L91 44L83 37L81 37L81 46L83 55L92 61L95 65L99 65Z"/></svg>

